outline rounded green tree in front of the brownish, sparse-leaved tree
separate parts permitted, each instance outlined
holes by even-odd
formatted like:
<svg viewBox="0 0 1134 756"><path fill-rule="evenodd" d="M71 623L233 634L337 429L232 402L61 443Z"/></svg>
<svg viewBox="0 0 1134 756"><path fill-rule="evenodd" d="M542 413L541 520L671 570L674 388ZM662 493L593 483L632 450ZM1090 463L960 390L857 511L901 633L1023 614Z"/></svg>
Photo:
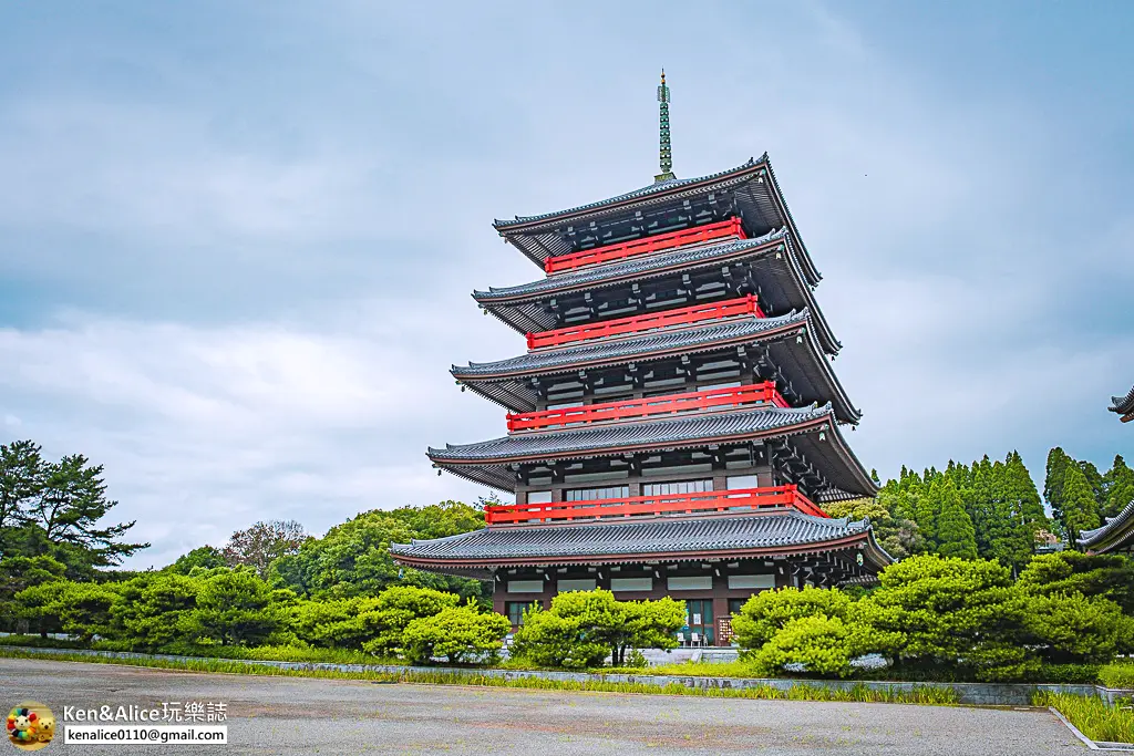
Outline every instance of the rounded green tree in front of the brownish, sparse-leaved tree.
<svg viewBox="0 0 1134 756"><path fill-rule="evenodd" d="M281 619L271 588L255 572L223 570L201 580L185 626L222 646L255 646L280 629Z"/></svg>

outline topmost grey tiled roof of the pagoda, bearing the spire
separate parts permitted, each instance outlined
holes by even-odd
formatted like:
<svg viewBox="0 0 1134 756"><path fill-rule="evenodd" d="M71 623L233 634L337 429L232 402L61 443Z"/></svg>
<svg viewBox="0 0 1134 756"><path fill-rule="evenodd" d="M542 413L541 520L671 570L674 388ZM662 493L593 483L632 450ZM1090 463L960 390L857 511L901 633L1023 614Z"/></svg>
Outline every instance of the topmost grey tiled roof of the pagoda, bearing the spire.
<svg viewBox="0 0 1134 756"><path fill-rule="evenodd" d="M769 229L787 226L799 244L803 269L809 283L819 283L822 277L803 245L799 230L780 193L768 153L761 155L759 160L750 158L746 163L719 173L657 181L609 199L541 215L517 215L510 221L497 220L493 226L500 236L542 266L548 257L574 252L565 238L568 226L578 224L584 220L590 222L632 215L649 205L678 204L691 197L722 193L735 193L737 209L750 235L759 236Z"/></svg>

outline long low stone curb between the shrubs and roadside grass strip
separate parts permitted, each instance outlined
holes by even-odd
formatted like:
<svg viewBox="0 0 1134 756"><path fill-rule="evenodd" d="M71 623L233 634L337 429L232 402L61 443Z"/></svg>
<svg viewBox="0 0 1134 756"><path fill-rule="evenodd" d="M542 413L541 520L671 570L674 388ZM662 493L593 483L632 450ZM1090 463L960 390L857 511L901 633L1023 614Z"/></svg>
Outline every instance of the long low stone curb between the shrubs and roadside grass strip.
<svg viewBox="0 0 1134 756"><path fill-rule="evenodd" d="M494 677L506 680L524 678L542 678L544 680L559 680L570 682L628 682L655 686L679 685L686 688L714 689L733 688L750 689L759 687L771 687L779 690L788 690L796 685L806 685L831 690L847 690L855 686L865 686L871 690L882 690L892 693L909 693L915 688L953 688L957 694L958 703L971 706L1030 706L1032 694L1038 690L1049 693L1065 693L1078 696L1099 696L1108 704L1114 704L1115 699L1122 696L1129 696L1134 690L1120 690L1105 688L1094 685L1060 685L1060 683L1007 683L1007 682L898 682L879 680L807 680L789 678L713 678L700 676L675 676L675 674L602 674L593 672L552 672L543 670L500 670L500 669L468 669L451 666L403 666L399 664L332 664L327 662L277 662L268 660L251 659L218 659L209 660L201 656L177 656L172 654L141 654L126 651L92 651L84 648L36 648L33 646L3 646L0 645L0 654L5 648L11 648L20 653L31 654L78 654L82 656L101 656L104 659L153 659L175 662L202 662L219 661L245 664L248 666L274 666L277 669L293 669L306 671L328 672L381 672L388 674L399 674L414 672L420 674L456 674L464 677ZM1119 744L1120 745L1120 744Z"/></svg>

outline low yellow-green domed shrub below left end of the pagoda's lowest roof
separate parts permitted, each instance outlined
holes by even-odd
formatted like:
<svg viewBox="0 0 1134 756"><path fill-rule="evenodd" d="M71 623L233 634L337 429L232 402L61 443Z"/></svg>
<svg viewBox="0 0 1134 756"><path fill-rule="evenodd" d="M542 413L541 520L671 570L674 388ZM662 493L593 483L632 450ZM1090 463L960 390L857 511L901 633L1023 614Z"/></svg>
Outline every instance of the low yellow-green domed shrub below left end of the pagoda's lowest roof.
<svg viewBox="0 0 1134 756"><path fill-rule="evenodd" d="M411 663L429 664L437 656L450 664L488 662L497 657L510 629L507 617L452 606L409 622L403 647Z"/></svg>

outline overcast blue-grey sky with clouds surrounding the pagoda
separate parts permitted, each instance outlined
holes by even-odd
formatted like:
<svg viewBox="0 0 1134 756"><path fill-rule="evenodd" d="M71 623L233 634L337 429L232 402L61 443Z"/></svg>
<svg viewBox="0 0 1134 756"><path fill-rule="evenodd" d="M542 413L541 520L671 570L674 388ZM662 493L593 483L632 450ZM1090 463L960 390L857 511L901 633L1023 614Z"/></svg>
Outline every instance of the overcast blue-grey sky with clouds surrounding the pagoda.
<svg viewBox="0 0 1134 756"><path fill-rule="evenodd" d="M1083 10L1089 10L1084 15ZM426 445L500 435L451 363L540 271L493 218L768 151L823 273L868 468L1134 427L1126 2L6 2L0 442L105 465L163 564L488 493Z"/></svg>

